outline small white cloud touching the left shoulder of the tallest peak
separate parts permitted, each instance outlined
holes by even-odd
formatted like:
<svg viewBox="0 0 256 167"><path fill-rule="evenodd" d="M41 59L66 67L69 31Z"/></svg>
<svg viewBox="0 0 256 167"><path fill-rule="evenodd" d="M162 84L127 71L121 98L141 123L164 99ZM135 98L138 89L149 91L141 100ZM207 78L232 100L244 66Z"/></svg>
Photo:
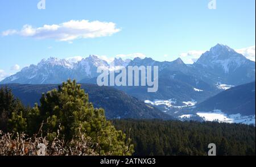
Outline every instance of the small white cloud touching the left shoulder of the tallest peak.
<svg viewBox="0 0 256 167"><path fill-rule="evenodd" d="M205 51L188 51L180 54L181 59L185 64L193 64Z"/></svg>

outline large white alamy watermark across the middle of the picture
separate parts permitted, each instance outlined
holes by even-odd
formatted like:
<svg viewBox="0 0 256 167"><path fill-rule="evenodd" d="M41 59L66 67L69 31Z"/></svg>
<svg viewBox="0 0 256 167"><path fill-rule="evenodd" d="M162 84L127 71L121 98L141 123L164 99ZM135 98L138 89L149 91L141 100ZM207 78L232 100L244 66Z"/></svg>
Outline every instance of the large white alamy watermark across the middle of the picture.
<svg viewBox="0 0 256 167"><path fill-rule="evenodd" d="M148 86L147 92L158 91L158 66L118 66L114 70L98 67L97 73L101 73L98 86Z"/></svg>

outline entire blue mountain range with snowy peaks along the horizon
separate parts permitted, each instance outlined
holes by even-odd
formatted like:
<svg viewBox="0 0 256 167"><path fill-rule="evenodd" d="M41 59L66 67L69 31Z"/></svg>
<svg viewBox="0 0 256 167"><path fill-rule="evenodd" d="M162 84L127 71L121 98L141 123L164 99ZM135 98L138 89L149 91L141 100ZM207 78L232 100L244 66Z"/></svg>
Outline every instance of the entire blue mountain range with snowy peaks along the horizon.
<svg viewBox="0 0 256 167"><path fill-rule="evenodd" d="M183 101L204 101L211 95L227 89L228 85L240 85L255 80L255 62L247 60L233 49L218 44L204 53L200 59L192 65L184 64L181 59L175 61L156 61L146 57L134 60L114 59L105 61L94 55L82 58L80 56L67 59L49 58L42 60L38 65L30 65L23 68L13 76L5 78L0 83L61 83L68 78L78 82L96 83L97 68L111 71L121 69L124 66L158 66L159 67L159 91L156 94L143 93L143 87L118 87L134 97L146 99L170 99L175 98L179 103ZM113 67L113 64L115 65ZM216 83L225 85L216 87ZM181 89L182 88L182 89ZM203 91L202 91L203 90ZM180 105L180 104L179 104Z"/></svg>

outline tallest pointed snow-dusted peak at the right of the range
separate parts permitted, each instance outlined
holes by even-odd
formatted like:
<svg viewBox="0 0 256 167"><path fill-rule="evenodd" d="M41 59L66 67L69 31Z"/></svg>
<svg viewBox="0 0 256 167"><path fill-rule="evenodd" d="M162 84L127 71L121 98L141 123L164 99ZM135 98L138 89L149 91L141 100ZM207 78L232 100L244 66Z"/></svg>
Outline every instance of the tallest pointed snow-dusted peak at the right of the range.
<svg viewBox="0 0 256 167"><path fill-rule="evenodd" d="M222 44L205 52L193 65L225 84L240 85L255 80L255 62Z"/></svg>

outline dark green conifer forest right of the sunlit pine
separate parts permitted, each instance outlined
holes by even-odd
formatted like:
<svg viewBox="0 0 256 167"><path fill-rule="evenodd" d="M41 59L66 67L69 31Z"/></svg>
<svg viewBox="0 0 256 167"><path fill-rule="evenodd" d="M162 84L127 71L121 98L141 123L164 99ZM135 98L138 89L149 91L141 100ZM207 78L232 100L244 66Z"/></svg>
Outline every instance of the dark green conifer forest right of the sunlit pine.
<svg viewBox="0 0 256 167"><path fill-rule="evenodd" d="M113 120L134 144L134 155L255 155L255 127L217 122L174 120Z"/></svg>

